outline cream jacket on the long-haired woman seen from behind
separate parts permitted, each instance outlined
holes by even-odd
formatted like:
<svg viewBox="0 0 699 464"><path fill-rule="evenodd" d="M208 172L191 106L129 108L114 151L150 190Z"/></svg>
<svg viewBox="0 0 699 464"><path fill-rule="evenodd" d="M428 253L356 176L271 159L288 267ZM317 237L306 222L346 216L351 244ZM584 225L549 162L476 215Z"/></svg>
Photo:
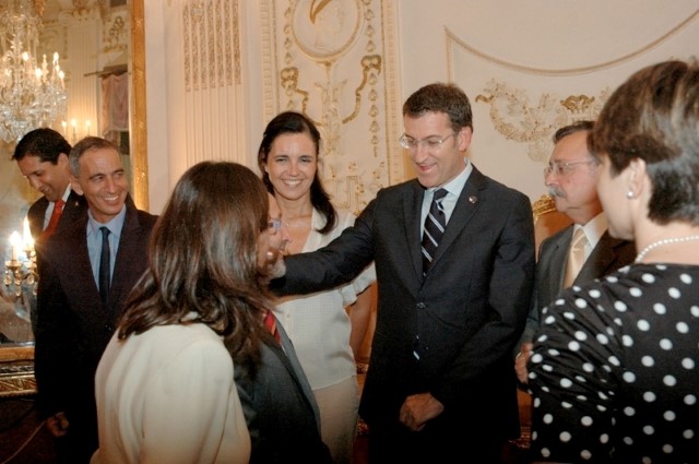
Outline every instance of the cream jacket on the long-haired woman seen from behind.
<svg viewBox="0 0 699 464"><path fill-rule="evenodd" d="M95 378L99 449L91 463L247 463L233 369L204 324L112 336Z"/></svg>

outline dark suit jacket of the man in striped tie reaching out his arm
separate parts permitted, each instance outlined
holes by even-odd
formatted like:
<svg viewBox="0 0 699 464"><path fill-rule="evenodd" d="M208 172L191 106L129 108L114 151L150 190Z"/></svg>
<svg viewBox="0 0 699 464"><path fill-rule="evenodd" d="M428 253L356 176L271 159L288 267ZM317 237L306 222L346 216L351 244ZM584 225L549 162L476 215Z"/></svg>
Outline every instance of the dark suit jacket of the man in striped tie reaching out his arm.
<svg viewBox="0 0 699 464"><path fill-rule="evenodd" d="M328 247L288 257L273 289L335 286L375 260L377 325L359 409L369 427L399 427L406 396L429 392L445 405L430 424L462 448L472 432L519 436L510 350L534 283L531 204L474 167L424 277L423 195L417 180L379 191Z"/></svg>

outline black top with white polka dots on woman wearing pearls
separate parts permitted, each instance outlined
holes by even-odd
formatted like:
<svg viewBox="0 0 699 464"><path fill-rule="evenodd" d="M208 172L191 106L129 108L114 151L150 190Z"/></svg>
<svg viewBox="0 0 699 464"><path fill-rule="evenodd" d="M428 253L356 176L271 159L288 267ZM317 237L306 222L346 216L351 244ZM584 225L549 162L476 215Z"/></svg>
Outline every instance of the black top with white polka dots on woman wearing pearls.
<svg viewBox="0 0 699 464"><path fill-rule="evenodd" d="M633 264L561 293L530 359L532 449L557 462L699 462L699 266Z"/></svg>

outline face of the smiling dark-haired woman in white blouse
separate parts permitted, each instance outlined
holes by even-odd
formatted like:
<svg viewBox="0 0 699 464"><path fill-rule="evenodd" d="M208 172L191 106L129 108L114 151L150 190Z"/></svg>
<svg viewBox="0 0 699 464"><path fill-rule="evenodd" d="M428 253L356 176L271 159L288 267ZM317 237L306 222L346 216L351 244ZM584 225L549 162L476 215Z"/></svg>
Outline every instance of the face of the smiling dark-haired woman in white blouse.
<svg viewBox="0 0 699 464"><path fill-rule="evenodd" d="M275 194L310 203L310 186L318 170L316 144L306 132L284 133L272 142L264 171Z"/></svg>

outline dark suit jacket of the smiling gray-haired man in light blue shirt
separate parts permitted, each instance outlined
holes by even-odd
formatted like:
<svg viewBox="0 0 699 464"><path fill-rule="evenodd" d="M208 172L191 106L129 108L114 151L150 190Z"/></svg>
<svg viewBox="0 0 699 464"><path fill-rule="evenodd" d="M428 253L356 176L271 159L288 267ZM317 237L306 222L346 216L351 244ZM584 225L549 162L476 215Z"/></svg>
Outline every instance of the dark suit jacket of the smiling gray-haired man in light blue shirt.
<svg viewBox="0 0 699 464"><path fill-rule="evenodd" d="M156 218L127 204L107 307L102 305L90 265L87 214L54 234L37 250L35 369L39 409L43 416L66 412L71 429L86 427L95 433L95 371L127 296L147 266L149 239Z"/></svg>

